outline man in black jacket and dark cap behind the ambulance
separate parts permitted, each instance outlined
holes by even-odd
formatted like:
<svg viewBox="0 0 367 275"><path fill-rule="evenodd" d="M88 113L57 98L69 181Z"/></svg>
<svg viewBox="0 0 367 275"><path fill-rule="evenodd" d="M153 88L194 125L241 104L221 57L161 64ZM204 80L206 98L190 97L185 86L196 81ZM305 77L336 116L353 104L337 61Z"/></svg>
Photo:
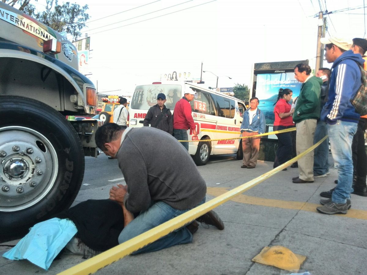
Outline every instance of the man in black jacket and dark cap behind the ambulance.
<svg viewBox="0 0 367 275"><path fill-rule="evenodd" d="M143 121L144 126L150 126L160 129L164 132L172 135L173 133L173 120L170 109L166 108L164 103L166 103L166 95L160 93L157 95L157 104L150 107L148 113Z"/></svg>

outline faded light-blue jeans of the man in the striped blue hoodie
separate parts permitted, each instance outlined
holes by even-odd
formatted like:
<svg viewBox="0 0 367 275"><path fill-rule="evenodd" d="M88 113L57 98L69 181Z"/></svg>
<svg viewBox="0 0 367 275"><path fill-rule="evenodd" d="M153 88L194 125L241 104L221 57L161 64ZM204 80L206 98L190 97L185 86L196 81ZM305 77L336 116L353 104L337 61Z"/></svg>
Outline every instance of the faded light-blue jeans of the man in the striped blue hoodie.
<svg viewBox="0 0 367 275"><path fill-rule="evenodd" d="M353 192L352 140L357 131L357 121L337 120L336 124L327 124L331 154L335 168L338 169L338 184L333 191L332 201L346 203Z"/></svg>

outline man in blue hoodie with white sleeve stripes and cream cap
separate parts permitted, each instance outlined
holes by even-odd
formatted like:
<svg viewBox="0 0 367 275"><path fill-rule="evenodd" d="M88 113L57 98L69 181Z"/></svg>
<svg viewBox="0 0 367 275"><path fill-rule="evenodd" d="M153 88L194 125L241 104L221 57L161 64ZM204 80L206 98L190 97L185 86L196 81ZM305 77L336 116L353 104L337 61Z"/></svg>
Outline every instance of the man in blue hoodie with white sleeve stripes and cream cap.
<svg viewBox="0 0 367 275"><path fill-rule="evenodd" d="M338 169L338 185L330 199L321 199L316 209L324 214L346 214L350 207L352 192L353 162L352 139L357 131L360 117L350 103L361 85L359 65L364 60L360 54L349 50L352 40L333 37L321 38L325 44L325 58L331 67L328 100L321 111L320 119L326 122L331 153Z"/></svg>

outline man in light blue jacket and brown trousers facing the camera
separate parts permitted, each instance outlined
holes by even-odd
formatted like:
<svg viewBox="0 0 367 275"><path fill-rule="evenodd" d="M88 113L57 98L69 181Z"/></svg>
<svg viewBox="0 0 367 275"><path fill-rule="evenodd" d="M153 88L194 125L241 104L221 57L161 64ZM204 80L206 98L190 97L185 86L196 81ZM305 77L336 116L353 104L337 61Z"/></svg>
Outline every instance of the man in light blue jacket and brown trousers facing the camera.
<svg viewBox="0 0 367 275"><path fill-rule="evenodd" d="M265 115L257 107L259 105L258 98L250 99L250 109L243 114L241 124L243 149L243 165L241 168L255 168L260 149L260 137L252 137L265 133Z"/></svg>

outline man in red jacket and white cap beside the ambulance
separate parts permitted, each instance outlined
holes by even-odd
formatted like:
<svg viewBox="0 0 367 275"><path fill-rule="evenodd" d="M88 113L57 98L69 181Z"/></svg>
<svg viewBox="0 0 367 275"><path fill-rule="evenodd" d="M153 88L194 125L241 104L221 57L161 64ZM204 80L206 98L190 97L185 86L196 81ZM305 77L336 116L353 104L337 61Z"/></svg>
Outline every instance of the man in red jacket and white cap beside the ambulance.
<svg viewBox="0 0 367 275"><path fill-rule="evenodd" d="M189 140L187 130L192 129L193 136L197 136L194 119L191 115L190 101L194 99L195 91L188 89L187 93L177 101L173 112L173 133L177 140ZM189 143L181 142L189 151Z"/></svg>

